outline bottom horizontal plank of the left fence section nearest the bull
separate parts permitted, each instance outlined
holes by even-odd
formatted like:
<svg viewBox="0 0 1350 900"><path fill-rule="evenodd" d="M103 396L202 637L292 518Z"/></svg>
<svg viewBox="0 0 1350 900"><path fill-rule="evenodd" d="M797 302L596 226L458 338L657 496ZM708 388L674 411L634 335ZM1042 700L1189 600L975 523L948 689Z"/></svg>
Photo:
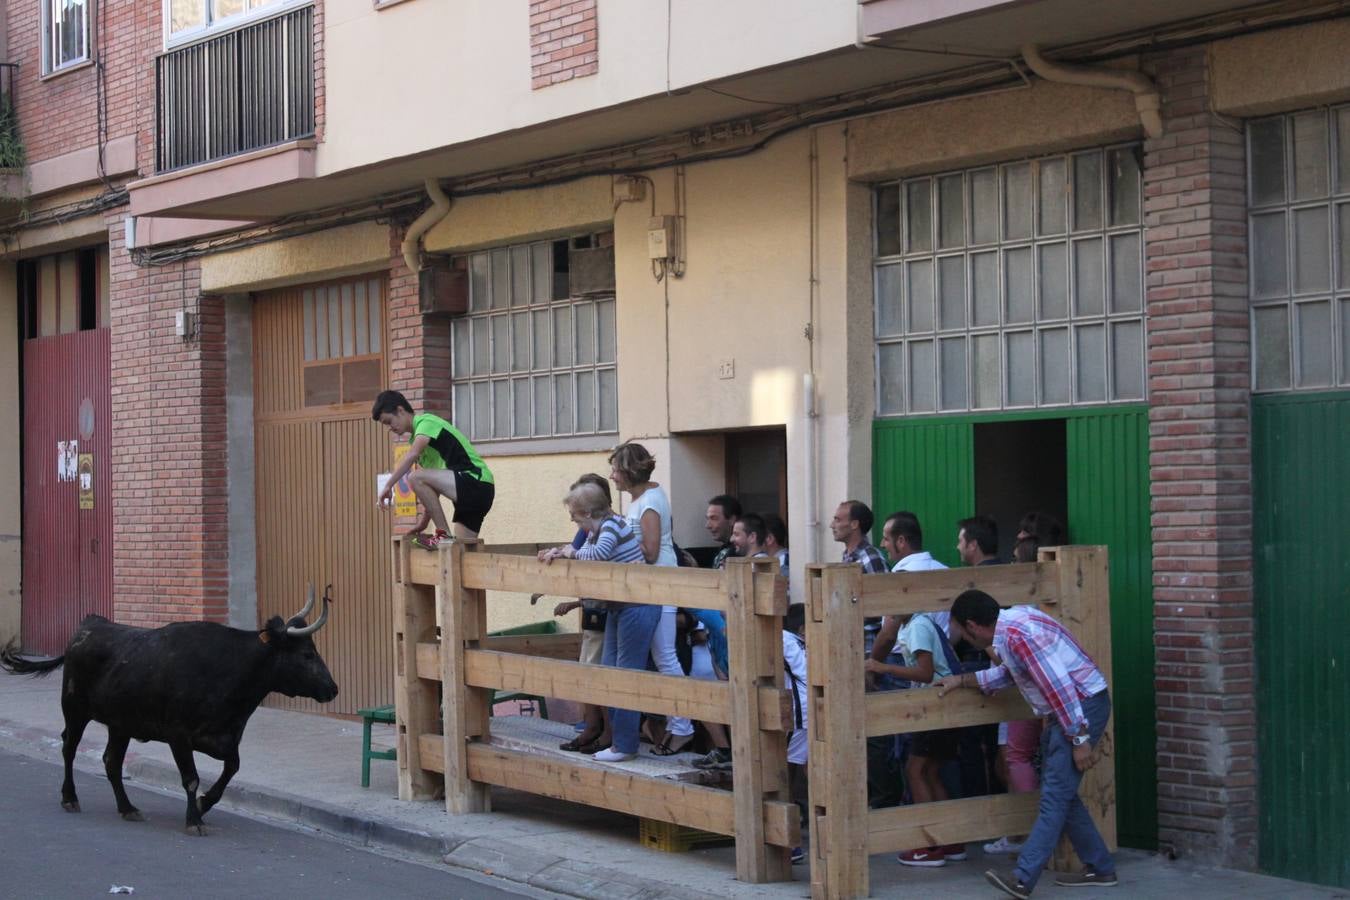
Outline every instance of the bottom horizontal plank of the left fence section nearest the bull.
<svg viewBox="0 0 1350 900"><path fill-rule="evenodd" d="M470 743L468 777L690 828L736 834L730 791L634 775L616 765L580 761L570 764L486 743ZM765 839L775 846L798 846L802 835L796 806L765 801L764 831Z"/></svg>

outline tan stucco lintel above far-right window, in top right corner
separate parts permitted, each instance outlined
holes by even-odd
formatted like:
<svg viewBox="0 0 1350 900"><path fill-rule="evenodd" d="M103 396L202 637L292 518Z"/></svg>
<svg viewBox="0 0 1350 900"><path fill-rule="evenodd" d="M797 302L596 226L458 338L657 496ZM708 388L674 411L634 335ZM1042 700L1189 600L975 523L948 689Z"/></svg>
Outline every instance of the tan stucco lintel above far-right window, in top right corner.
<svg viewBox="0 0 1350 900"><path fill-rule="evenodd" d="M1258 116L1350 99L1347 43L1350 19L1218 40L1210 45L1214 109Z"/></svg>

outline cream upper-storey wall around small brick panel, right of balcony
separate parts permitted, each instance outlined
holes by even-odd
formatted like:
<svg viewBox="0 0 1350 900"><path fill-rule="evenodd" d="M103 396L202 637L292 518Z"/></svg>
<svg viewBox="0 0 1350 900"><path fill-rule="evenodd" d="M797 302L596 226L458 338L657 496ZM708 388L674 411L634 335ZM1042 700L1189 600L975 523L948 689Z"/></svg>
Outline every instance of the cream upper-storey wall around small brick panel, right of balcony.
<svg viewBox="0 0 1350 900"><path fill-rule="evenodd" d="M599 72L532 90L525 3L328 0L319 174L846 47L856 24L853 0L683 0L670 27L664 3L601 3L598 13ZM397 72L373 77L373 59L397 59Z"/></svg>

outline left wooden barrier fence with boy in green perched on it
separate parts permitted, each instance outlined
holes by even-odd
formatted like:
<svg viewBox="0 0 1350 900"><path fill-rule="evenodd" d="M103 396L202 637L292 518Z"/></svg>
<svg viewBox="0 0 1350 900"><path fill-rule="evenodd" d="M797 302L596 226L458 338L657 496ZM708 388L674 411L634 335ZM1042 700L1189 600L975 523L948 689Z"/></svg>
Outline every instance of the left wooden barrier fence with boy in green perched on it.
<svg viewBox="0 0 1350 900"><path fill-rule="evenodd" d="M776 565L776 560L729 560L726 569L710 571L544 564L532 556L483 552L474 542L428 553L396 538L400 799L432 799L444 791L448 812L486 812L495 784L734 835L737 878L790 881L788 854L802 841L798 808L788 801L792 710L783 688L780 637L787 596ZM486 591L718 610L726 617L730 677L703 681L585 665L576 661L576 634L489 638ZM733 789L493 746L494 690L734 722Z"/></svg>

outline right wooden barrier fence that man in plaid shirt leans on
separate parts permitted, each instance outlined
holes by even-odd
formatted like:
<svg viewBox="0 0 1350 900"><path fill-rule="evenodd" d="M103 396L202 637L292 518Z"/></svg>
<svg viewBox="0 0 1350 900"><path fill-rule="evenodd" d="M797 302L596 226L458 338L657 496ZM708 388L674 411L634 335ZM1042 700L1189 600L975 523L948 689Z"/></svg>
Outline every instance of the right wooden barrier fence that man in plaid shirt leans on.
<svg viewBox="0 0 1350 900"><path fill-rule="evenodd" d="M1056 617L1111 680L1104 546L1046 548L1038 561L1017 565L899 575L863 575L852 564L809 567L810 864L817 900L868 896L869 854L1026 834L1035 820L1038 792L868 810L868 737L1035 718L1013 688L994 696L954 691L942 699L934 690L864 692L864 617L949 610L969 588L1003 606L1035 604ZM1111 725L1099 752L1104 758L1084 776L1080 796L1114 850ZM1061 841L1052 865L1071 864L1068 842Z"/></svg>

